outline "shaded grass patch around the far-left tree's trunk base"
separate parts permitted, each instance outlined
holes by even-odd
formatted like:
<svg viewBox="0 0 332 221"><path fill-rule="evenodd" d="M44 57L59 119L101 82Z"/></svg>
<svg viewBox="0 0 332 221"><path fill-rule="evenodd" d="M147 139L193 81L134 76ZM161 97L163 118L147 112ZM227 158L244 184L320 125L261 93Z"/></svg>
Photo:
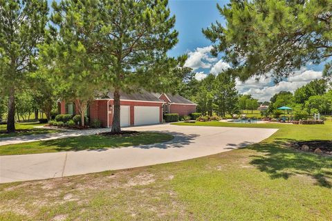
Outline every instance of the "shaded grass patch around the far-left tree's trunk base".
<svg viewBox="0 0 332 221"><path fill-rule="evenodd" d="M6 124L0 124L0 138L4 137L18 137L22 135L36 135L42 133L55 133L57 130L50 130L46 128L34 128L34 126L43 126L45 124L39 123L17 123L15 124L15 133L6 133Z"/></svg>

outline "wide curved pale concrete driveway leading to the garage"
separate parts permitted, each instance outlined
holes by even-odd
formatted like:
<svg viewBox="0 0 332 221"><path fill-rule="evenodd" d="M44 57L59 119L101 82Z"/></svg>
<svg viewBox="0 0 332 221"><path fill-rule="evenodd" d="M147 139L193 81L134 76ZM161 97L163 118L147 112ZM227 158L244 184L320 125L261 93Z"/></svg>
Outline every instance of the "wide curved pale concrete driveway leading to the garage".
<svg viewBox="0 0 332 221"><path fill-rule="evenodd" d="M0 156L0 183L42 180L188 160L260 142L277 131L277 129L267 128L175 126L170 124L126 129L172 133L174 140L160 144L98 151Z"/></svg>

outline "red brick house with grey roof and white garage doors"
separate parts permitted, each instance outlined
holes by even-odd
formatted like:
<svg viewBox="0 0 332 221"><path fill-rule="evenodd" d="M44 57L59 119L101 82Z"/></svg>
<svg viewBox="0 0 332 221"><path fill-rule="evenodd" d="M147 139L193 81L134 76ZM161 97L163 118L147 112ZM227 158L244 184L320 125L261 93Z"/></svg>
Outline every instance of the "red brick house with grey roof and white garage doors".
<svg viewBox="0 0 332 221"><path fill-rule="evenodd" d="M102 127L111 127L113 122L113 93L96 98L86 111L91 121L99 119ZM76 102L59 102L61 114L79 114ZM189 115L196 111L196 104L180 95L164 93L121 93L120 124L134 126L163 122L163 114Z"/></svg>

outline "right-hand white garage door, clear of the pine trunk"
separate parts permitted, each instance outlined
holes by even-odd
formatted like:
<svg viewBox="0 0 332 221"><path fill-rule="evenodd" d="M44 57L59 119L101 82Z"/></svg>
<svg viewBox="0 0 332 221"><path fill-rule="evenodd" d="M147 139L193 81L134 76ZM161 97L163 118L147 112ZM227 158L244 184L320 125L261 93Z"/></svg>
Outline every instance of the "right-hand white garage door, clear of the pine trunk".
<svg viewBox="0 0 332 221"><path fill-rule="evenodd" d="M134 110L135 125L158 124L160 122L160 107L158 106L135 106Z"/></svg>

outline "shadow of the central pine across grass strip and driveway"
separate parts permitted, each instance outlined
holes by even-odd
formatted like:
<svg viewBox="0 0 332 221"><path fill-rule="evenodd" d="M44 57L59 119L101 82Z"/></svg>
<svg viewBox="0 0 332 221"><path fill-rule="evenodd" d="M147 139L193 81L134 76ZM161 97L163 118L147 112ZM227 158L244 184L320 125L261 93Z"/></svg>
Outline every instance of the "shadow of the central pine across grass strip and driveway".
<svg viewBox="0 0 332 221"><path fill-rule="evenodd" d="M169 133L171 135L163 135ZM108 148L133 146L134 148L181 148L187 146L198 135L170 133L169 131L148 131L137 136L119 137L86 135L67 137L40 142L40 146L48 146L56 151L106 151Z"/></svg>

